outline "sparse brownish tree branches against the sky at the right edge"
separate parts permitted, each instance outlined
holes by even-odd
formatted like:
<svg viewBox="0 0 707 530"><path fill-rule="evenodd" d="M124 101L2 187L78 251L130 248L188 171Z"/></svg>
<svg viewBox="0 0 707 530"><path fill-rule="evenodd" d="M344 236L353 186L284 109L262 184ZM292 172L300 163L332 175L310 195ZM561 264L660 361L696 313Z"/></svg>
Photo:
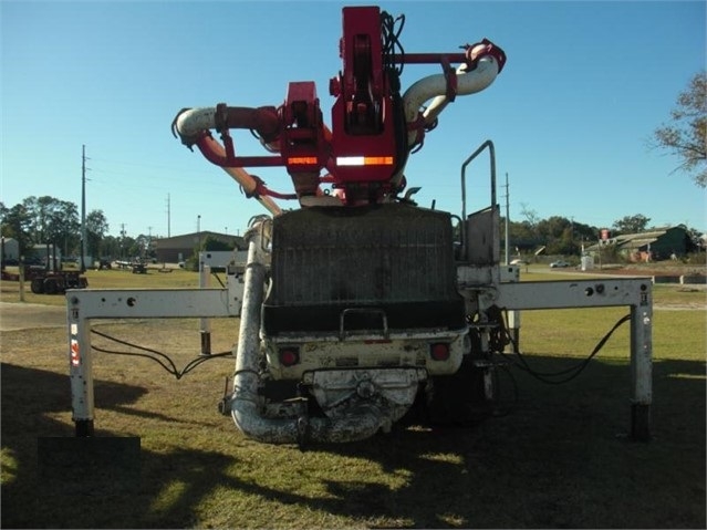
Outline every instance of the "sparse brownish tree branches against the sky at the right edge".
<svg viewBox="0 0 707 530"><path fill-rule="evenodd" d="M652 148L665 148L682 163L675 170L690 175L697 186L707 186L707 74L697 73L670 111L670 123L653 133Z"/></svg>

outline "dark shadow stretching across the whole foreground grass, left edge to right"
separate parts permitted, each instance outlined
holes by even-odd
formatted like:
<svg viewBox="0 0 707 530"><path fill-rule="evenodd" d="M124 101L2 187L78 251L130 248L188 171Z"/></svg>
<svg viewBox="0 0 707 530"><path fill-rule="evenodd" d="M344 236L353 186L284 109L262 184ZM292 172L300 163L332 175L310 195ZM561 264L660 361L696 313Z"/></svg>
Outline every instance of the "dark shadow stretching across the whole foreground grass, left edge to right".
<svg viewBox="0 0 707 530"><path fill-rule="evenodd" d="M566 360L532 357L533 366L557 371ZM38 436L73 436L46 413L70 408L66 376L2 366L2 445L17 463L2 487L3 528L185 528L202 524L205 503L228 490L233 507L243 497L281 509L330 513L363 527L387 528L705 528L705 365L654 363L654 439L633 443L630 371L593 362L562 386L547 386L514 372L519 401L511 414L467 428L410 428L371 440L297 453L267 448L291 466L321 466L340 457L373 463L376 476L321 470L327 495L275 488L258 477L240 478L233 466L248 446L227 455L186 448L142 451L136 495L38 498ZM505 380L509 384L508 380ZM139 387L96 382L111 388L102 406L124 407ZM108 399L110 403L106 403ZM235 428L235 427L233 427ZM101 432L102 436L119 436ZM270 463L263 463L271 465ZM292 469L288 470L292 472ZM278 468L271 472L277 474ZM389 486L385 477L405 477ZM160 502L165 486L171 500ZM223 500L221 500L223 502ZM90 506L91 509L82 509ZM237 508L233 508L237 511ZM272 519L230 527L275 528ZM292 516L283 526L297 527ZM301 527L311 521L299 519Z"/></svg>

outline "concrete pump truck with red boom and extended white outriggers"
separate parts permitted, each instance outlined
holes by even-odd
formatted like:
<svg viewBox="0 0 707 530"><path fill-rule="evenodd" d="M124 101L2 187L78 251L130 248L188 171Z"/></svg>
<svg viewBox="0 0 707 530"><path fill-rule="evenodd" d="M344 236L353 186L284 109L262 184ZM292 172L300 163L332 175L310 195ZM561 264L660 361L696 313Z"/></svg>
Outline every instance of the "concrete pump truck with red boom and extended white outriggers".
<svg viewBox="0 0 707 530"><path fill-rule="evenodd" d="M490 141L462 164L460 215L415 204L410 154L450 103L493 83L506 54L487 39L456 53L408 53L402 20L377 7L343 9L331 125L310 81L289 83L279 106L178 112L174 134L267 214L251 220L247 259L235 254L223 289L67 293L77 436L93 434L94 319L240 316L220 411L247 437L304 444L361 440L410 417L474 419L493 403L500 355L513 345L505 314L612 305L631 308L632 434L649 436L649 280L519 281L518 268L500 260ZM404 90L409 64L440 71ZM268 155L236 154L235 129L252 132ZM490 201L467 212L466 167L486 153ZM292 193L246 169L274 166ZM284 211L278 200L295 207Z"/></svg>

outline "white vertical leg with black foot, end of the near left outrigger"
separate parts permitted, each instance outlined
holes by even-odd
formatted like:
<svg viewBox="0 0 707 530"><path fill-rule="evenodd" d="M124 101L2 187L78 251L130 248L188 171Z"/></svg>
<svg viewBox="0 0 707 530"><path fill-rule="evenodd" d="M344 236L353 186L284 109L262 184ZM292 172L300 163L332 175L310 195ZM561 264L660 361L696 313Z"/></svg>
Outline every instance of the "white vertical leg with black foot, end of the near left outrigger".
<svg viewBox="0 0 707 530"><path fill-rule="evenodd" d="M77 437L93 436L91 324L82 316L75 299L70 302L67 320L72 419Z"/></svg>

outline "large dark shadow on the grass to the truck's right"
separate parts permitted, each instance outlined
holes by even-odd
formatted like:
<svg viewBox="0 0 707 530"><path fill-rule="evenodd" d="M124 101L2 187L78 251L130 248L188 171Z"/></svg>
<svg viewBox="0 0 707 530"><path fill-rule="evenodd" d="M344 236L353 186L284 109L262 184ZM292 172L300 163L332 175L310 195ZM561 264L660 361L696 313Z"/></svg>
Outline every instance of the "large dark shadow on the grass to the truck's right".
<svg viewBox="0 0 707 530"><path fill-rule="evenodd" d="M568 365L531 362L544 372ZM406 487L331 481L330 490L383 526L705 528L705 363L654 363L649 443L627 436L627 365L594 362L559 386L514 375L520 397L505 417L333 449L408 470Z"/></svg>

